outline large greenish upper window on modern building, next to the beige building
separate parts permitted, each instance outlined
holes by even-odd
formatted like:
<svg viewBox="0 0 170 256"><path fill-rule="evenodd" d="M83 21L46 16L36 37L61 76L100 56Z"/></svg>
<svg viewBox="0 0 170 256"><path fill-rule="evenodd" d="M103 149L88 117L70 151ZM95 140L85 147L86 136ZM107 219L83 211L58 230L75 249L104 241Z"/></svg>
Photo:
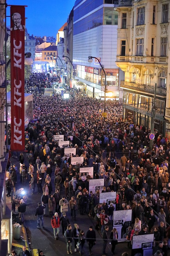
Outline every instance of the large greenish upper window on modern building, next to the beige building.
<svg viewBox="0 0 170 256"><path fill-rule="evenodd" d="M117 25L118 13L112 7L104 8L104 25Z"/></svg>

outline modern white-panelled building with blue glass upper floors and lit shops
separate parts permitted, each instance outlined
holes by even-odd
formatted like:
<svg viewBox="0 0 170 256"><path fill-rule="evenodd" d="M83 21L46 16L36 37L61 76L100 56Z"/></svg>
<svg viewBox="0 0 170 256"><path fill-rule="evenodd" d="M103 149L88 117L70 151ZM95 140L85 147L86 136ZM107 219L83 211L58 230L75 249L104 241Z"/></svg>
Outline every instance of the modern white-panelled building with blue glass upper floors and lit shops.
<svg viewBox="0 0 170 256"><path fill-rule="evenodd" d="M107 98L122 99L119 68L116 66L118 13L114 1L77 0L73 19L73 63L75 79L86 85L90 97L104 98L106 72ZM88 56L96 57L89 63ZM122 72L122 71L120 71Z"/></svg>

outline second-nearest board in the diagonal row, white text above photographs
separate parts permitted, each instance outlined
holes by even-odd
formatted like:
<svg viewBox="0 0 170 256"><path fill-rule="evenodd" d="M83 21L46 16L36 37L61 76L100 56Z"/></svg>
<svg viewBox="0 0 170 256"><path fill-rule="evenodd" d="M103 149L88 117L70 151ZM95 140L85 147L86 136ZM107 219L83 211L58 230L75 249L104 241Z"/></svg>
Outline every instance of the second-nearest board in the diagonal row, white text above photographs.
<svg viewBox="0 0 170 256"><path fill-rule="evenodd" d="M118 241L127 241L126 228L131 226L132 210L122 210L113 212L113 228L117 229Z"/></svg>

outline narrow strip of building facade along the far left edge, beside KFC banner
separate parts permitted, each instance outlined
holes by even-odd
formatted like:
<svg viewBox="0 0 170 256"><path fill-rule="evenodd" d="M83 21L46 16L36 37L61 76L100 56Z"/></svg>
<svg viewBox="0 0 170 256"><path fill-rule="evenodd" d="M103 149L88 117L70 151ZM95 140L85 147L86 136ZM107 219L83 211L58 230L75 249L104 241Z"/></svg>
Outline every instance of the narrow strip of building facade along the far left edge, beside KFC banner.
<svg viewBox="0 0 170 256"><path fill-rule="evenodd" d="M12 246L12 219L11 204L6 205L6 165L8 153L5 153L5 58L4 58L4 38L5 38L5 5L0 0L0 255L7 256Z"/></svg>

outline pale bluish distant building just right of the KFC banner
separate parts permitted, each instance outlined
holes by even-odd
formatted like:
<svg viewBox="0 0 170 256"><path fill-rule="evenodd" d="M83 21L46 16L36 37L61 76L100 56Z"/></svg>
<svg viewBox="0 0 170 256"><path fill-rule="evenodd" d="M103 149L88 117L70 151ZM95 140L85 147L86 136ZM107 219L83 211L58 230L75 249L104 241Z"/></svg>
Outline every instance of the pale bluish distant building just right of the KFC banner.
<svg viewBox="0 0 170 256"><path fill-rule="evenodd" d="M28 34L27 28L25 28L25 53L31 52L31 58L35 60L35 37Z"/></svg>

